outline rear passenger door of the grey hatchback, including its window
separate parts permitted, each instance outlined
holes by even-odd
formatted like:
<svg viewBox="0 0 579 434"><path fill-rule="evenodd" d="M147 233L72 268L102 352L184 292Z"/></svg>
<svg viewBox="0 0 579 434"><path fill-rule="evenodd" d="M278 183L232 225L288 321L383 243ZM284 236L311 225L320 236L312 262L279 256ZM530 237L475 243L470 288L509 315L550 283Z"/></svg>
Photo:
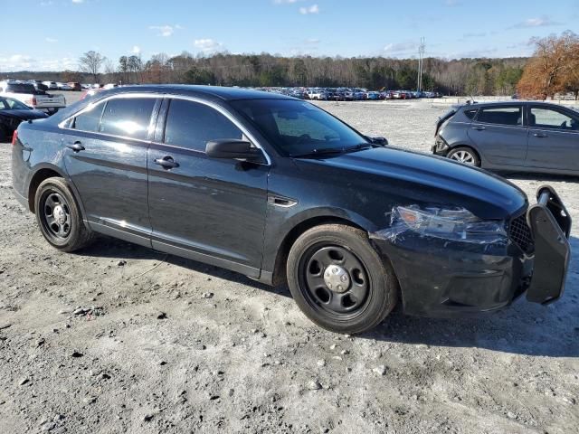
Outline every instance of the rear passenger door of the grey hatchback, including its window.
<svg viewBox="0 0 579 434"><path fill-rule="evenodd" d="M481 107L468 135L491 165L525 165L528 130L522 104Z"/></svg>

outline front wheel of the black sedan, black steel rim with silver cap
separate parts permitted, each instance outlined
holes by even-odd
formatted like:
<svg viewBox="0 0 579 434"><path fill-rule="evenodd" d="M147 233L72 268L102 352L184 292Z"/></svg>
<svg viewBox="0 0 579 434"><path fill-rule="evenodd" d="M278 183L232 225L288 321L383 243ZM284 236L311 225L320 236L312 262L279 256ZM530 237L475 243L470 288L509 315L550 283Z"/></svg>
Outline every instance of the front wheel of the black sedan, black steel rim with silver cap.
<svg viewBox="0 0 579 434"><path fill-rule="evenodd" d="M332 332L370 330L398 299L398 281L387 259L364 231L342 224L320 225L299 236L289 250L287 276L301 311Z"/></svg>

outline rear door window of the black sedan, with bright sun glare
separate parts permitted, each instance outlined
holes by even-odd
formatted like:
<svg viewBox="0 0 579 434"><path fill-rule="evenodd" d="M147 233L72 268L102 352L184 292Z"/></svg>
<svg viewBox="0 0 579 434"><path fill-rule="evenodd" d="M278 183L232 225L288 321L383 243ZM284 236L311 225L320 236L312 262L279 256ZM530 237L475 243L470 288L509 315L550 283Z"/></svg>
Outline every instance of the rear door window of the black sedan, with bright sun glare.
<svg viewBox="0 0 579 434"><path fill-rule="evenodd" d="M100 132L112 136L147 138L154 98L109 99L100 121Z"/></svg>

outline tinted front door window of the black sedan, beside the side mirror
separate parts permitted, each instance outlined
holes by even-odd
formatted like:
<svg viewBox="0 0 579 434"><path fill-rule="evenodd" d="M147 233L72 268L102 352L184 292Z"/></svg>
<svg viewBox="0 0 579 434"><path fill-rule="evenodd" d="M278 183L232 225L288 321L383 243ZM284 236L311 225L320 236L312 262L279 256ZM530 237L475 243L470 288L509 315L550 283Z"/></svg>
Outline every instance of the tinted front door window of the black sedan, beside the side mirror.
<svg viewBox="0 0 579 434"><path fill-rule="evenodd" d="M194 101L171 100L165 127L167 145L205 151L211 140L242 137L242 130L217 110Z"/></svg>

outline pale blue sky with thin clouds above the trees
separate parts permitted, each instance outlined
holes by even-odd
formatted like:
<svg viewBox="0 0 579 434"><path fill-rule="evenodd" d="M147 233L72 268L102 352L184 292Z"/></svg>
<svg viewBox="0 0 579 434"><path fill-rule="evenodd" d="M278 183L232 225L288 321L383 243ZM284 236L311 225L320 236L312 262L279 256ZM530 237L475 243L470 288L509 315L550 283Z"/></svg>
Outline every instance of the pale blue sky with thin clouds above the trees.
<svg viewBox="0 0 579 434"><path fill-rule="evenodd" d="M579 0L0 0L1 71L78 70L83 52L446 59L533 52L579 33Z"/></svg>

